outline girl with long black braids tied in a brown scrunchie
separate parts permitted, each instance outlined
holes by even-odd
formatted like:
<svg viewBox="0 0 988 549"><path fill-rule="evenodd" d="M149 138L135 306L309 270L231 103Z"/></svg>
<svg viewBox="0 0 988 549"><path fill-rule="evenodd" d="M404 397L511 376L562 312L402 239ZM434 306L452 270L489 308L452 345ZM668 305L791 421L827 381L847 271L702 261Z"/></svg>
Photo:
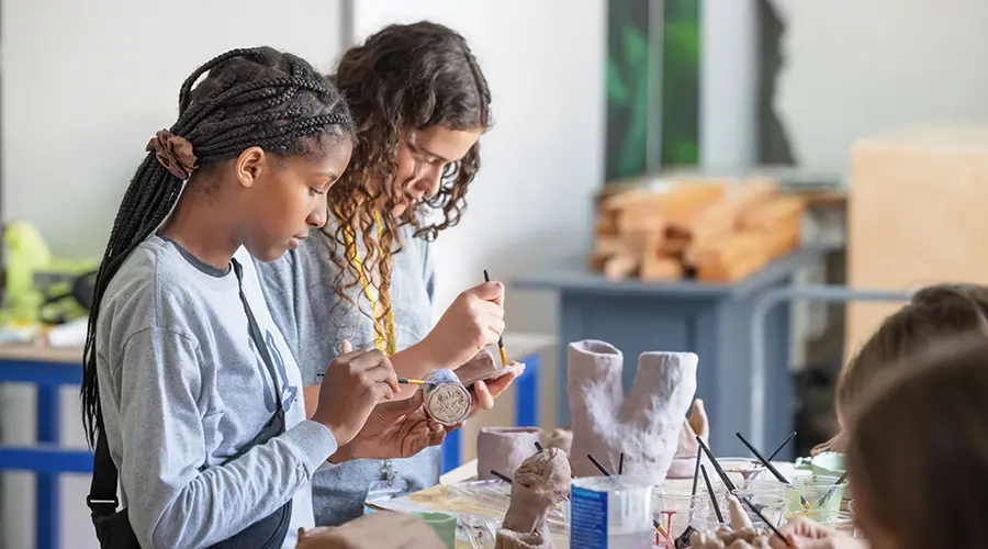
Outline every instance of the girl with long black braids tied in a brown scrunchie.
<svg viewBox="0 0 988 549"><path fill-rule="evenodd" d="M394 399L383 352L345 352L307 421L251 260L326 223L353 133L340 92L269 47L223 54L182 85L96 282L82 403L103 547L294 547L313 525L315 470Z"/></svg>

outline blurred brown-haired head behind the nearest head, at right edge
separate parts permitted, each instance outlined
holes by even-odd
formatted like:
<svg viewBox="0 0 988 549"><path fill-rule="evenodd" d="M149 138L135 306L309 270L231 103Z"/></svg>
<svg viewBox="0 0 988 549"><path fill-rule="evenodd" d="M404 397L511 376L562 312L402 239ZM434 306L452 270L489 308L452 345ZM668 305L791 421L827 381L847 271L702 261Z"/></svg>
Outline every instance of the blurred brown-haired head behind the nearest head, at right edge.
<svg viewBox="0 0 988 549"><path fill-rule="evenodd" d="M844 367L834 399L841 433L813 453L843 451L846 415L876 377L900 368L903 360L945 337L972 330L988 334L988 287L938 284L918 291L909 304L883 321Z"/></svg>

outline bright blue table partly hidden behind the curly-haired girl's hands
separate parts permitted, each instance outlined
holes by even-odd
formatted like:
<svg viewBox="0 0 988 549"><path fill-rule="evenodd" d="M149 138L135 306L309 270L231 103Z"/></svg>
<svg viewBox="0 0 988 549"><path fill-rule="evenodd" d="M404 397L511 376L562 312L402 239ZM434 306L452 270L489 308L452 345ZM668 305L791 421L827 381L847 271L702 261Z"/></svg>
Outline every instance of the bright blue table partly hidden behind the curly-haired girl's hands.
<svg viewBox="0 0 988 549"><path fill-rule="evenodd" d="M553 338L525 334L505 334L504 349L508 360L525 363L525 372L512 384L515 388L515 426L539 426L539 362L540 354L554 344ZM496 357L497 354L495 352ZM499 359L497 359L499 360ZM460 467L462 433L454 430L442 442L442 473Z"/></svg>

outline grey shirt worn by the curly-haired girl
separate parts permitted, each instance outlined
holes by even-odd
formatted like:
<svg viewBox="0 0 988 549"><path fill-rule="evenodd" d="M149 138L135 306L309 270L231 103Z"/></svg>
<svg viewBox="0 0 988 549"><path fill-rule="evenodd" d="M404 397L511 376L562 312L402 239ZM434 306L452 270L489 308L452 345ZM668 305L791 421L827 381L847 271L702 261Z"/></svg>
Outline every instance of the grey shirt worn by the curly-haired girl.
<svg viewBox="0 0 988 549"><path fill-rule="evenodd" d="M325 231L335 231L333 222ZM404 248L393 256L391 280L397 350L422 341L431 329L433 316L434 271L428 243L414 238L411 227L401 231ZM329 238L322 231L312 231L297 250L270 264L256 261L268 307L299 359L306 385L318 383L316 374L336 358L344 339L355 349L374 346L370 318L351 303L341 302L333 290L339 269L329 259ZM361 238L357 238L357 245L362 257ZM369 311L361 287L351 290L355 302ZM393 495L438 484L440 460L440 449L431 447L408 459L362 459L321 470L312 481L316 525L336 526L359 517L374 486L379 489L375 493Z"/></svg>

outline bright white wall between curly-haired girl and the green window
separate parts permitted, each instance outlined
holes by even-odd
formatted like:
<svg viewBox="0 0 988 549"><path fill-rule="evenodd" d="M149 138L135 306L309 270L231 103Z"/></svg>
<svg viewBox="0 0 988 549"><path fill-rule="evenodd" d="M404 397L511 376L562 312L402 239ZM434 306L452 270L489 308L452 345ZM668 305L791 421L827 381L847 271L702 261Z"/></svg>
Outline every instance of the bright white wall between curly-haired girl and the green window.
<svg viewBox="0 0 988 549"><path fill-rule="evenodd" d="M358 41L384 24L422 19L459 31L494 98L469 212L436 242L437 314L482 282L484 269L509 280L590 250L592 198L604 177L606 2L519 8L503 0L355 2ZM555 333L551 296L509 290L506 315L508 329Z"/></svg>

